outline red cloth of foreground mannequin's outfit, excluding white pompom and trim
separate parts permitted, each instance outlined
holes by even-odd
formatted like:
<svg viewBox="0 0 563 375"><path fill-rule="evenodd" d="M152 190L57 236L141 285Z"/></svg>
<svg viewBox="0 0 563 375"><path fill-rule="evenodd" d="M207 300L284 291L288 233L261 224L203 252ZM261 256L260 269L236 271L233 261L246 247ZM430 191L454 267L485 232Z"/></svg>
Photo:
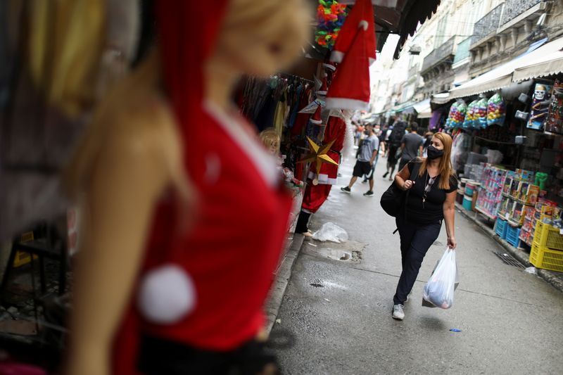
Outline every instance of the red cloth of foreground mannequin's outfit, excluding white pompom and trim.
<svg viewBox="0 0 563 375"><path fill-rule="evenodd" d="M182 133L186 170L199 199L194 227L183 236L173 194L158 205L139 277L175 262L194 281L196 307L177 324L156 326L141 319L132 295L114 340L113 374L138 373L141 331L197 348L231 350L262 326L262 307L292 200L285 191L265 184L248 155L202 107L202 61L213 49L227 3L156 2L165 87ZM216 181L205 177L209 158L220 165Z"/></svg>

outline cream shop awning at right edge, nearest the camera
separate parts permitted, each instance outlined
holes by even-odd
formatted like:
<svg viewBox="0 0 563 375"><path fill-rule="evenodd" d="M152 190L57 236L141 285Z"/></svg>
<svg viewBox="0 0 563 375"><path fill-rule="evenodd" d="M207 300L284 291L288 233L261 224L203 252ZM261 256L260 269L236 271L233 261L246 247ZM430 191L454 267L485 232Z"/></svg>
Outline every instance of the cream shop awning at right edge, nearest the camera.
<svg viewBox="0 0 563 375"><path fill-rule="evenodd" d="M512 75L514 82L563 72L563 37L540 47L534 51L534 55L534 58L525 56L514 69Z"/></svg>

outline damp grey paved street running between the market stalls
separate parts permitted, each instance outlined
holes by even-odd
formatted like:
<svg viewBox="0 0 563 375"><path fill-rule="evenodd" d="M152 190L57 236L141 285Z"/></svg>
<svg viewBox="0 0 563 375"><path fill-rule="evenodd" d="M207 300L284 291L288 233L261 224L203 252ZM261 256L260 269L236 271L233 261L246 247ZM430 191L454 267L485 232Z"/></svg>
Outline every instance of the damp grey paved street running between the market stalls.
<svg viewBox="0 0 563 375"><path fill-rule="evenodd" d="M340 186L349 181L353 161L341 167ZM453 307L421 306L424 282L445 250L442 229L405 320L391 319L400 251L394 220L379 206L389 184L381 177L385 163L379 159L374 198L362 196L367 185L359 182L350 196L334 186L313 219L313 231L334 222L350 241L303 245L273 329L297 340L279 351L284 374L561 374L563 293L505 265L495 255L502 248L459 214L460 287Z"/></svg>

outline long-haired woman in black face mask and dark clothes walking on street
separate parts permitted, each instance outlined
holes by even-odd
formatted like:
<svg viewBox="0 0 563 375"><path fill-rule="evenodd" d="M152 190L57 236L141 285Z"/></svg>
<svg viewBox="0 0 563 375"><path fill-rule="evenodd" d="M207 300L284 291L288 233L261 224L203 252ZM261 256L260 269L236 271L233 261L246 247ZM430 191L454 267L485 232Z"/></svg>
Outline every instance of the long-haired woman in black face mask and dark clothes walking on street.
<svg viewBox="0 0 563 375"><path fill-rule="evenodd" d="M403 320L403 307L415 285L422 260L438 238L442 221L448 234L448 247L455 248L455 195L457 179L450 162L452 138L436 133L427 149L426 158L416 158L395 176L395 184L408 194L406 215L398 215L400 251L403 271L393 297L393 319ZM419 172L411 172L419 163Z"/></svg>

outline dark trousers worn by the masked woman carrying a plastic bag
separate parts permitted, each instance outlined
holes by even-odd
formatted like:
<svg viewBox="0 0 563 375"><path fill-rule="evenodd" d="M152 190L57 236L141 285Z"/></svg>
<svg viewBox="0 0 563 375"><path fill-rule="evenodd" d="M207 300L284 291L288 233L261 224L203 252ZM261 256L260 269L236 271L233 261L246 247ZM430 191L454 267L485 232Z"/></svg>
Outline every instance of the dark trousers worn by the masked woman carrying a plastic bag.
<svg viewBox="0 0 563 375"><path fill-rule="evenodd" d="M412 286L415 285L424 255L438 238L442 223L412 224L405 222L403 217L397 217L396 223L400 235L403 271L400 273L393 304L404 305L407 295L412 290Z"/></svg>

